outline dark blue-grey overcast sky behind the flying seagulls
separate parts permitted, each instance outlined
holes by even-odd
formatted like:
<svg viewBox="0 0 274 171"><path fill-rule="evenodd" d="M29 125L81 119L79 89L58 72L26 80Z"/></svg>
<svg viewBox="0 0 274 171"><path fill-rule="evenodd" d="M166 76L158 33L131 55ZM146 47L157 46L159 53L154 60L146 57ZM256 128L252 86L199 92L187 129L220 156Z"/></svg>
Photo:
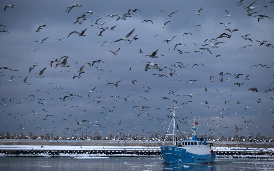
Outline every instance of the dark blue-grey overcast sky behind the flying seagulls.
<svg viewBox="0 0 274 171"><path fill-rule="evenodd" d="M243 2L244 4L241 5L248 6L254 1ZM74 7L66 13L66 8L73 3L80 3L82 7ZM16 5L14 8L7 7L4 11L5 6L11 4ZM250 12L259 13L248 16L247 11L237 4L239 4L237 1L218 0L138 1L138 3L133 1L1 1L0 24L6 27L1 26L0 30L6 30L9 33L0 32L0 67L9 67L18 71L0 70L2 72L0 131L19 134L22 131L20 128L24 128L25 134L30 131L36 135L53 132L55 135L65 134L67 137L82 134L82 132L89 135L99 132L103 136L109 133L115 135L119 132L131 135L138 133L145 136L150 136L151 133L162 135L170 123L170 119L166 117L170 115L170 112L166 108L172 106L175 100L177 101L175 105L179 107L176 110L177 122L179 123L183 118L185 118L184 121L189 122L179 123L181 131L188 133L193 118L191 114L196 114L200 125L198 134L213 134L219 137L260 133L270 136L273 134L273 99L271 98L273 92L266 93L266 91L273 89L274 85L271 84L274 81L272 65L274 48L265 45L273 44L274 25L270 18L274 18L274 6L268 1L258 0L252 5L256 8ZM268 7L260 7L265 5ZM195 14L202 7L201 15ZM138 9L140 12L132 12L131 17L127 17L126 20L116 21L118 17L105 17L107 16L105 13L123 16L129 9ZM179 11L169 17L160 10L167 13ZM229 11L231 16L226 17L225 10ZM103 26L90 26L93 24L91 21L96 21L99 17L95 14L86 14L86 20L82 24L73 24L78 16L88 11L95 12L101 17L98 23L107 22ZM270 18L264 17L258 22L256 15L259 14ZM142 23L143 20L152 20L153 24ZM163 24L169 20L171 22L167 23L165 28L160 27L159 23ZM227 27L219 24L229 22L232 24ZM40 32L35 32L34 29L40 25L47 25L48 28L44 27L40 29ZM106 29L102 33L103 36L95 35L101 31L97 27L115 25L117 26L114 30ZM86 28L84 37L77 34L67 37L72 31L82 32ZM125 36L134 28L131 37L137 35L139 38L137 41L130 44L128 41L110 43ZM238 29L238 31L230 33L225 30L227 28L231 31ZM184 34L189 32L191 34ZM216 42L225 42L218 44L218 48L202 46L213 44L213 42L204 41L219 37L222 33L231 34L231 37L217 39ZM250 34L247 37L252 42L241 37L246 34ZM158 36L154 37L154 35ZM171 42L163 42L166 38L171 39L175 35ZM49 38L44 43L34 42L46 37ZM60 38L64 38L63 42L56 42ZM256 40L268 42L260 46ZM108 42L101 46L105 41ZM186 46L178 45L177 49L189 53L179 54L177 50L174 50L175 44L180 42ZM209 48L212 54L207 50L203 53L194 52L200 50L194 43L200 47ZM246 45L252 46L241 48ZM36 48L39 49L34 52L32 49ZM118 48L120 48L118 55L112 56L109 50L115 52ZM143 53L139 53L140 48ZM158 58L146 56L157 49L159 49L156 55ZM166 52L164 56L160 55L164 52ZM216 55L221 56L216 57ZM69 67L55 68L56 63L50 67L50 61L53 58L59 59L62 56L69 56L67 60ZM95 60L102 60L104 63L95 63L91 67L87 64ZM164 70L160 72L157 69L149 69L146 72L144 61L158 63ZM182 68L176 67L173 64L181 65L176 63L177 61L184 66L189 65ZM29 67L32 67L34 63L38 66L29 73ZM204 66L193 66L199 63ZM80 78L73 79L73 76L79 74L77 71L83 65L85 65L83 68L85 73L81 74ZM45 67L47 67L43 73L45 77L36 77L35 74ZM132 71L128 71L130 67ZM69 69L69 72L64 69ZM174 72L173 76L170 76L170 72ZM221 72L231 75L221 76ZM167 78L153 75L155 73L164 74ZM234 74L243 75L235 78ZM21 79L16 77L9 81L12 75L20 76ZM249 75L248 80L245 80L246 75ZM211 80L210 76L213 76ZM23 83L22 79L25 77L28 77L28 83L33 84ZM220 82L221 78L223 82ZM114 89L113 84L106 86L109 83L107 80L122 81L118 83L119 89ZM135 85L132 84L132 80L137 81ZM194 84L186 84L188 80L197 81ZM235 83L240 83L240 87ZM146 86L151 89L143 89ZM62 87L62 89L55 87ZM88 91L94 87L97 92L90 93L88 97ZM205 91L205 87L208 91ZM249 90L252 87L257 88L258 92ZM196 89L198 90L193 93L192 98L180 96L189 95ZM223 93L218 94L216 89ZM171 91L176 92L172 95ZM60 100L69 94L73 96L68 97L66 101ZM30 95L35 97L31 99ZM110 95L119 97L110 97ZM129 96L128 101L124 103L121 98L127 96ZM147 100L141 96L146 97ZM163 97L167 98L163 99ZM97 103L96 100L101 102ZM192 102L183 104L189 100ZM230 103L225 103L225 100L229 100ZM149 108L144 110L147 113L137 116L142 110L134 106ZM32 110L38 114L34 114ZM23 116L18 114L25 112L27 113ZM47 116L51 114L53 116ZM46 116L47 119L43 120ZM76 120L89 122L85 125L77 125ZM242 130L236 132L235 125L238 128L242 127Z"/></svg>

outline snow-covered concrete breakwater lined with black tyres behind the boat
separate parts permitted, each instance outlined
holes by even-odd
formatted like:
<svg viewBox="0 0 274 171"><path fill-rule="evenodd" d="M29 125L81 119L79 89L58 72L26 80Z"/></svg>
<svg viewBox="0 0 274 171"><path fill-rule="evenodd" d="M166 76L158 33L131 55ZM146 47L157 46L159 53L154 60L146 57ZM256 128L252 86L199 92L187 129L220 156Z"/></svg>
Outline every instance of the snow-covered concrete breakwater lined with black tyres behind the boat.
<svg viewBox="0 0 274 171"><path fill-rule="evenodd" d="M163 141L0 140L1 156L160 157ZM166 141L165 143L171 143ZM274 157L272 142L214 142L217 157Z"/></svg>

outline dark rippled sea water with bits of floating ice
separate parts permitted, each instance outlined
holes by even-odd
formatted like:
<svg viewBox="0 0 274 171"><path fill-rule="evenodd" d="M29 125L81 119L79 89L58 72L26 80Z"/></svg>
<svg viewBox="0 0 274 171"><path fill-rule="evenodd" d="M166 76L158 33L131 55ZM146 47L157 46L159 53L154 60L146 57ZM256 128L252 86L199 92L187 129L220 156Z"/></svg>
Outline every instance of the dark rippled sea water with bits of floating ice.
<svg viewBox="0 0 274 171"><path fill-rule="evenodd" d="M1 171L273 171L274 158L216 158L212 164L164 164L146 157L0 157Z"/></svg>

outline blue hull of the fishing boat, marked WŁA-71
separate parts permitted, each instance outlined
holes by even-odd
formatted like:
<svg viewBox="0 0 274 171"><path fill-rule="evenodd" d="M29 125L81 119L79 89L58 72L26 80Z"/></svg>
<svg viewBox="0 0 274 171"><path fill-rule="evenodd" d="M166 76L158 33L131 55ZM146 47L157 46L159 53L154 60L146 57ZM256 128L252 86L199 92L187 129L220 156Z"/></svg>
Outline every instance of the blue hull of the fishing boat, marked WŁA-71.
<svg viewBox="0 0 274 171"><path fill-rule="evenodd" d="M164 163L212 163L216 158L216 152L212 154L194 154L186 152L184 148L176 146L162 146L161 153Z"/></svg>

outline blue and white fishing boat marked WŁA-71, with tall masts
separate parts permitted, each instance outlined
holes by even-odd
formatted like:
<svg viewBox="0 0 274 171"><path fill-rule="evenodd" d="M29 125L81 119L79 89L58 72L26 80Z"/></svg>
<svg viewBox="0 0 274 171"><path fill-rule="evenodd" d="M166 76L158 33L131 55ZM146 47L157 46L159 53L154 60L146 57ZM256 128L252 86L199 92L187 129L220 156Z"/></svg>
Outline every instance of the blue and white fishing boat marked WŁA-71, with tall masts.
<svg viewBox="0 0 274 171"><path fill-rule="evenodd" d="M173 116L169 124L168 131L164 142L161 146L161 155L164 163L204 163L209 164L214 162L216 152L213 152L213 143L208 142L207 138L198 138L196 135L197 118L194 118L192 123L191 137L188 139L177 140L175 135L177 125L175 125L175 106L169 107L173 109ZM169 134L169 129L172 133ZM171 136L172 141L167 143L166 139ZM170 143L172 142L172 144Z"/></svg>

